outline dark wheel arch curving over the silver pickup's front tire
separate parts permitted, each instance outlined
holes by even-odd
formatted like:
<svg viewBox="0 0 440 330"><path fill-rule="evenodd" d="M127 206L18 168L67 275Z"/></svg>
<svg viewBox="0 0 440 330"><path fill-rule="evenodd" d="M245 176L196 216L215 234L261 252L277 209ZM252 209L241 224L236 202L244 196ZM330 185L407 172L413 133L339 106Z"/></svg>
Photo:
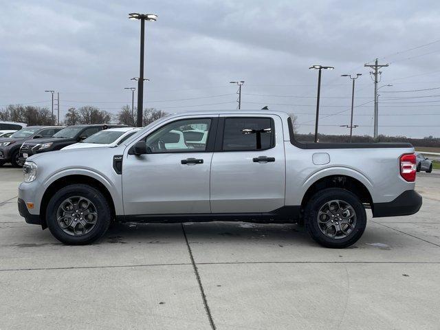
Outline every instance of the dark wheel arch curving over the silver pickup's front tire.
<svg viewBox="0 0 440 330"><path fill-rule="evenodd" d="M83 174L72 174L72 175L65 175L63 177L54 180L46 188L40 203L41 226L43 227L43 229L47 228L46 209L47 209L47 204L49 203L51 197L54 195L56 191L60 190L65 186L69 186L70 184L86 184L102 192L102 195L104 195L104 197L107 199L107 202L109 203L111 216L112 219L114 219L116 214L115 203L113 201L113 197L111 196L109 189L104 184L102 184L101 181L99 181L94 177Z"/></svg>

